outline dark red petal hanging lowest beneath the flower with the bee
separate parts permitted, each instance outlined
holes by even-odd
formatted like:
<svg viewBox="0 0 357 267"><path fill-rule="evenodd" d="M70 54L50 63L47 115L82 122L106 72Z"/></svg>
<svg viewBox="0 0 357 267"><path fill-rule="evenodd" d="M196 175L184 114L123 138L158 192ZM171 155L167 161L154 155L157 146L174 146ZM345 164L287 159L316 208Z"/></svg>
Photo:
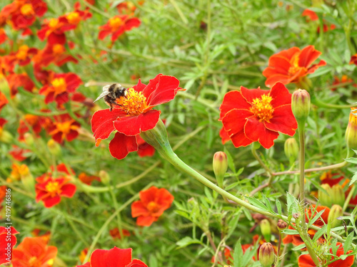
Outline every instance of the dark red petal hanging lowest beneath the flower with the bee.
<svg viewBox="0 0 357 267"><path fill-rule="evenodd" d="M135 136L126 136L116 132L113 140L109 143L109 151L116 159L124 159L129 152L138 150Z"/></svg>

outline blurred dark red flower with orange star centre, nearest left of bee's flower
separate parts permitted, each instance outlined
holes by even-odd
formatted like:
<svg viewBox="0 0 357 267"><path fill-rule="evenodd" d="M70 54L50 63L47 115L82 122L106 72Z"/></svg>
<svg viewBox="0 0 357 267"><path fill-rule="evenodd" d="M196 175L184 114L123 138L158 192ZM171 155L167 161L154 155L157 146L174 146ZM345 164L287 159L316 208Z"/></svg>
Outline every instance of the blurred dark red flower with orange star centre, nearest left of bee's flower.
<svg viewBox="0 0 357 267"><path fill-rule="evenodd" d="M55 122L49 127L49 135L56 142L62 144L64 140L71 142L79 135L81 125L72 119L68 114L62 114L55 117Z"/></svg>

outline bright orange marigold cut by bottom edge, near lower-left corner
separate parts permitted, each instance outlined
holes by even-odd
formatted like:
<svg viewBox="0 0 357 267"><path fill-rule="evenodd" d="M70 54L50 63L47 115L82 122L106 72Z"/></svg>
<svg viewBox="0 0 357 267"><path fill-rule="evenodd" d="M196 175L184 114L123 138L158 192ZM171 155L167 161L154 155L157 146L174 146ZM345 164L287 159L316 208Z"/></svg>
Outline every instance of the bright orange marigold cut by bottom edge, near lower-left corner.
<svg viewBox="0 0 357 267"><path fill-rule="evenodd" d="M25 237L12 252L12 265L50 267L56 255L56 246L48 246L42 237Z"/></svg>

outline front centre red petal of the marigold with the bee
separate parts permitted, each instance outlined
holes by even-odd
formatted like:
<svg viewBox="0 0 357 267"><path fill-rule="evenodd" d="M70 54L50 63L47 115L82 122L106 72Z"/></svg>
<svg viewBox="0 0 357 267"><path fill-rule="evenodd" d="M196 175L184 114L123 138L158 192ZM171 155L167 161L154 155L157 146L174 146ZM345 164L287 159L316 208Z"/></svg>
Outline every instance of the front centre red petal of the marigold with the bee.
<svg viewBox="0 0 357 267"><path fill-rule="evenodd" d="M154 128L156 123L159 122L159 117L159 110L149 110L148 112L137 116L121 116L114 120L114 127L115 130L124 135L139 135L140 132L145 132Z"/></svg>

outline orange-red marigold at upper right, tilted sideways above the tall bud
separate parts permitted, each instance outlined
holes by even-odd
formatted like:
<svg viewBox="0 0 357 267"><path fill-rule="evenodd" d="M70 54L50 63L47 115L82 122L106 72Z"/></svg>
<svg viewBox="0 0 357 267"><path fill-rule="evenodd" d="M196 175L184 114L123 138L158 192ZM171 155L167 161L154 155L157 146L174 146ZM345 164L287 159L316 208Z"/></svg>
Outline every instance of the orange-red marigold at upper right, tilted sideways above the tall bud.
<svg viewBox="0 0 357 267"><path fill-rule="evenodd" d="M317 51L314 46L306 46L302 50L293 47L276 53L269 58L268 68L263 70L266 86L271 87L276 82L284 85L298 83L301 78L326 65L326 62L322 60L311 65L320 55L321 52Z"/></svg>

